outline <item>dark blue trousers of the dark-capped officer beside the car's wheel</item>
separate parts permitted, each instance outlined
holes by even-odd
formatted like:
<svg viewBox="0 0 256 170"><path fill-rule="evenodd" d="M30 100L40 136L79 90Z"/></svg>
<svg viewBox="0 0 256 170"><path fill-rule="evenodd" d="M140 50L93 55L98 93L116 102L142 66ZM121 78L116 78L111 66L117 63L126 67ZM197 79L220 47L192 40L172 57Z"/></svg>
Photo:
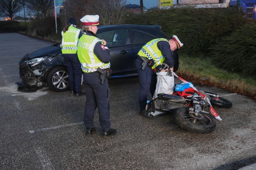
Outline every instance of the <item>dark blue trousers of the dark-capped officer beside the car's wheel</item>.
<svg viewBox="0 0 256 170"><path fill-rule="evenodd" d="M64 54L65 65L68 68L68 85L70 90L81 92L82 69L77 54Z"/></svg>

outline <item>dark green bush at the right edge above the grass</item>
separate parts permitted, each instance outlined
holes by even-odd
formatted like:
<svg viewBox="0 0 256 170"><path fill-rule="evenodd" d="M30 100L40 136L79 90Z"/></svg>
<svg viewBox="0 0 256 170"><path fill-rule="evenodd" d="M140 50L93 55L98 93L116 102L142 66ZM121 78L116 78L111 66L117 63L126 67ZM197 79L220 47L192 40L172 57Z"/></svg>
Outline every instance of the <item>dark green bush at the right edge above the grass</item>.
<svg viewBox="0 0 256 170"><path fill-rule="evenodd" d="M256 78L256 22L252 21L209 49L220 68Z"/></svg>

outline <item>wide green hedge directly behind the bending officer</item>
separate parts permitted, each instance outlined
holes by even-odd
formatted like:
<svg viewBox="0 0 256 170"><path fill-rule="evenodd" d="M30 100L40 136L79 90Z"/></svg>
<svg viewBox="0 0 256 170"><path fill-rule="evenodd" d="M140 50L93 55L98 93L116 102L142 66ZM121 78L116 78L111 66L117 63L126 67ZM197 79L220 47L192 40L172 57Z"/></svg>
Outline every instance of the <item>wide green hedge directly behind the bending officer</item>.
<svg viewBox="0 0 256 170"><path fill-rule="evenodd" d="M169 36L177 35L186 54L205 54L209 46L246 23L240 11L233 8L173 8L141 15L128 15L126 24L158 24Z"/></svg>

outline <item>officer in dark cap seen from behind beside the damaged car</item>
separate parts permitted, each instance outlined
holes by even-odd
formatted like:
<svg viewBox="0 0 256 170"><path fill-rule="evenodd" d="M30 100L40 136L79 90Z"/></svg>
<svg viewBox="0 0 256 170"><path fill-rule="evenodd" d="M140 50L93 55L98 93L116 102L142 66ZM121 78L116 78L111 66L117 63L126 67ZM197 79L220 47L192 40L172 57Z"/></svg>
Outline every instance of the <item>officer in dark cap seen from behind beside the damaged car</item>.
<svg viewBox="0 0 256 170"><path fill-rule="evenodd" d="M76 28L77 22L75 18L68 19L68 25L61 32L62 34L62 54L68 68L68 84L71 94L83 96L85 93L81 91L81 63L77 58L77 42L81 30Z"/></svg>

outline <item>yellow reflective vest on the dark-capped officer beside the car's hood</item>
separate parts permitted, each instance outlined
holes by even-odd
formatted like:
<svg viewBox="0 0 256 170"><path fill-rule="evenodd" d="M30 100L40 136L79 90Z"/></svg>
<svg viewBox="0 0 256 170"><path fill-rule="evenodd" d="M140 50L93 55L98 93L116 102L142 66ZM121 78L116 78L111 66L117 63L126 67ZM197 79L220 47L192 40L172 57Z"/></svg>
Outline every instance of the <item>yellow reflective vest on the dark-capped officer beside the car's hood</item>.
<svg viewBox="0 0 256 170"><path fill-rule="evenodd" d="M77 53L77 42L80 29L75 28L73 25L68 27L68 31L62 34L62 53L63 54L75 54Z"/></svg>

